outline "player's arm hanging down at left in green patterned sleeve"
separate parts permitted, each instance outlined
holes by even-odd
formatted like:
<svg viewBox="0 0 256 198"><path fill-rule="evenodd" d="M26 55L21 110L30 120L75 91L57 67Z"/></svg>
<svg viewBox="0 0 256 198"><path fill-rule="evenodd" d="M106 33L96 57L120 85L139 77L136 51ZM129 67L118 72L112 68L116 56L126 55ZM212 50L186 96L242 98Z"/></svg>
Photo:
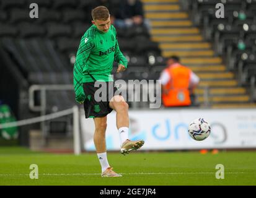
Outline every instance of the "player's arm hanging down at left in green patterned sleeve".
<svg viewBox="0 0 256 198"><path fill-rule="evenodd" d="M76 101L79 103L83 103L86 98L84 88L82 87L82 72L84 71L84 67L92 48L94 48L92 39L89 37L82 37L81 43L77 50L76 62L73 69L74 91L76 93Z"/></svg>

